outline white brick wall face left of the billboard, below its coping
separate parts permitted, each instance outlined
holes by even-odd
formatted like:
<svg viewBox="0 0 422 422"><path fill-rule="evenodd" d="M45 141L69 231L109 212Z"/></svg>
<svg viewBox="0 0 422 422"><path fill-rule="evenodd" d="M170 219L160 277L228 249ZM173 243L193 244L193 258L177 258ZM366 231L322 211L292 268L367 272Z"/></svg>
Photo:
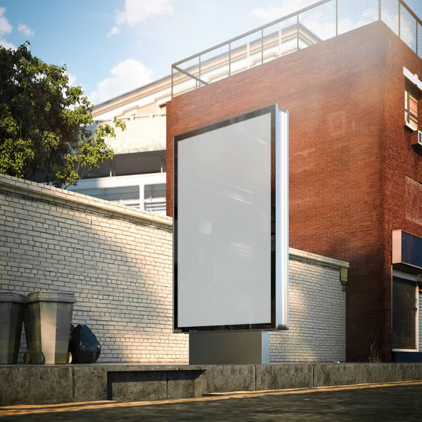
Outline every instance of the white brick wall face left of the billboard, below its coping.
<svg viewBox="0 0 422 422"><path fill-rule="evenodd" d="M98 362L188 361L187 335L172 333L171 227L9 196L0 203L2 290L75 293L72 322L96 334ZM20 362L25 348L23 335Z"/></svg>

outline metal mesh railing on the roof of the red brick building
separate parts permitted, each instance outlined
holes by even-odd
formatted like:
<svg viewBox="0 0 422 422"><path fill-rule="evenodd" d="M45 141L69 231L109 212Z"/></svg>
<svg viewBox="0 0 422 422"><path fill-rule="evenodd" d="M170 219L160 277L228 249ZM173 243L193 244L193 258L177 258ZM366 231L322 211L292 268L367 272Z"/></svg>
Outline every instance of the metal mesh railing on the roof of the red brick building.
<svg viewBox="0 0 422 422"><path fill-rule="evenodd" d="M422 58L422 21L402 0L322 0L172 65L172 97L381 20Z"/></svg>

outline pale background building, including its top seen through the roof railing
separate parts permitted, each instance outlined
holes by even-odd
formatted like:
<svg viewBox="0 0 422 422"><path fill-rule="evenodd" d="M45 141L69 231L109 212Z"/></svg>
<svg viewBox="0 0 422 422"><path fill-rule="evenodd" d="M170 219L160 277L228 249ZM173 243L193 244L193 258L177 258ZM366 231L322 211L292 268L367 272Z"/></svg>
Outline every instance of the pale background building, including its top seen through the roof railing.
<svg viewBox="0 0 422 422"><path fill-rule="evenodd" d="M305 26L288 21L283 32L271 32L264 40L268 46L279 41L283 47L276 53L285 55L294 51L298 42L305 48L321 39ZM260 39L241 41L231 52L231 72L253 67L260 58L260 46ZM227 65L225 58L211 55L188 71L215 82L224 77ZM182 78L164 77L94 107L95 124L91 129L99 124L112 124L117 117L126 122L127 130L117 131L116 139L110 142L115 152L113 160L103 162L68 190L165 214L166 103L172 98L172 79L177 79L179 92L198 85L195 79L181 75Z"/></svg>

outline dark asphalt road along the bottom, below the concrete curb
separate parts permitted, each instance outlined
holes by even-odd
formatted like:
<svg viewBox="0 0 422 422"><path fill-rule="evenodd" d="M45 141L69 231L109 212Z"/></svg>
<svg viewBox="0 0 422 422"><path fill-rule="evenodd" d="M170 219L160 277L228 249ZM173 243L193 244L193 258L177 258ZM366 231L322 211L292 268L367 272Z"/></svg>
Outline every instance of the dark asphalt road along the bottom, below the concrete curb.
<svg viewBox="0 0 422 422"><path fill-rule="evenodd" d="M87 407L89 409L87 409ZM16 414L19 413L19 414ZM0 408L1 421L421 421L422 382L167 402Z"/></svg>

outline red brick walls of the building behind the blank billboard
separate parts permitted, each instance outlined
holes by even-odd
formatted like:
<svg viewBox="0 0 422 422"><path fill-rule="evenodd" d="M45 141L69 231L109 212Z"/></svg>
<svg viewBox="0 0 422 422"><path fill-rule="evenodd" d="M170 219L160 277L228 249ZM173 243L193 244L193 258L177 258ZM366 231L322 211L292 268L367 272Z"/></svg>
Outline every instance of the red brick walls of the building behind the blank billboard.
<svg viewBox="0 0 422 422"><path fill-rule="evenodd" d="M170 216L173 136L273 103L289 110L290 246L350 262L349 361L373 342L392 359L392 231L422 236L422 158L403 101L422 91L410 74L422 79L421 58L378 20L167 103Z"/></svg>

